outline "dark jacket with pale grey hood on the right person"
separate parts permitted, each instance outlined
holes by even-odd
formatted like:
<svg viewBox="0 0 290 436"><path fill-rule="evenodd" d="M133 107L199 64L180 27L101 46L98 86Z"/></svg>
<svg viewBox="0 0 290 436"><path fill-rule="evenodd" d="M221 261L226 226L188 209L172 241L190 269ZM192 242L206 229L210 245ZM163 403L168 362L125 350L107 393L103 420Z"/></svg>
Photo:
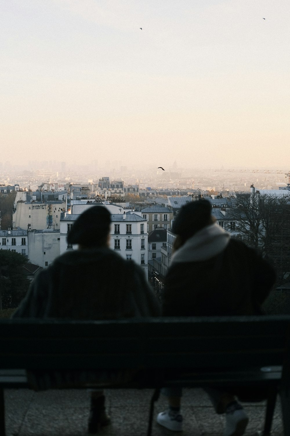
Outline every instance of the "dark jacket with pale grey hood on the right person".
<svg viewBox="0 0 290 436"><path fill-rule="evenodd" d="M254 249L211 224L173 254L163 315L260 314L275 279L273 267Z"/></svg>

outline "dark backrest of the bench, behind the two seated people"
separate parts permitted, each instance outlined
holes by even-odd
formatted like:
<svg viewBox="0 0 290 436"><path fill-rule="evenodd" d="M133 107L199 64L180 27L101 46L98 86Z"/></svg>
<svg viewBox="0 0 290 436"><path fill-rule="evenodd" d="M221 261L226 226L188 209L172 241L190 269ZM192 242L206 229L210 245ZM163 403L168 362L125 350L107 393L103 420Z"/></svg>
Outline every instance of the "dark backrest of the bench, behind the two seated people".
<svg viewBox="0 0 290 436"><path fill-rule="evenodd" d="M290 316L0 320L0 368L281 365Z"/></svg>

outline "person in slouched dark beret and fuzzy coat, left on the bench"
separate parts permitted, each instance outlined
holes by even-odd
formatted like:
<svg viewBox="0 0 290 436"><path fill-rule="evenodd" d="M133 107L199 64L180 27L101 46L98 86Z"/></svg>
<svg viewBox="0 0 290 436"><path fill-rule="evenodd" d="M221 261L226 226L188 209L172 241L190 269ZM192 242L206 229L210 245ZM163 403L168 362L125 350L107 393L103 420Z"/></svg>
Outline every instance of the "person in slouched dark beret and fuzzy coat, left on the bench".
<svg viewBox="0 0 290 436"><path fill-rule="evenodd" d="M112 320L160 315L160 303L140 266L109 248L110 224L110 212L101 205L79 215L67 235L68 244L78 244L78 249L60 255L38 273L13 318ZM70 374L70 379L74 376ZM122 374L115 376L120 379ZM113 379L114 374L105 371L100 377ZM67 374L50 379L38 374L33 381L41 389L54 387L55 379L67 379ZM110 422L104 402L103 391L91 392L90 433Z"/></svg>

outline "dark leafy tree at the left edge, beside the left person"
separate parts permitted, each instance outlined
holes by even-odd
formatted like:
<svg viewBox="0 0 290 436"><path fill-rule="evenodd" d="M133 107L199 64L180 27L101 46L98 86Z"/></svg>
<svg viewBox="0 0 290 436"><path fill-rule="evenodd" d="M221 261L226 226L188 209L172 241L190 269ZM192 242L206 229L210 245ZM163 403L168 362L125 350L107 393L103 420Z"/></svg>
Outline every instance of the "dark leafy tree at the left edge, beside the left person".
<svg viewBox="0 0 290 436"><path fill-rule="evenodd" d="M0 250L0 310L17 307L26 295L30 281L23 265L27 258L10 250Z"/></svg>

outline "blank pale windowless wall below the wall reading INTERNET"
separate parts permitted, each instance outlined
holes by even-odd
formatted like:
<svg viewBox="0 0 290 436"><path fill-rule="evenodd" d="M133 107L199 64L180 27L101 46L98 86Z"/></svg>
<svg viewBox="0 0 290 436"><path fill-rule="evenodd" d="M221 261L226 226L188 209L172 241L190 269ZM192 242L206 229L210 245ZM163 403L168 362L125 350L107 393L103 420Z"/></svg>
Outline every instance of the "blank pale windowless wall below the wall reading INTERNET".
<svg viewBox="0 0 290 436"><path fill-rule="evenodd" d="M28 232L28 258L34 265L46 268L60 255L60 231Z"/></svg>

